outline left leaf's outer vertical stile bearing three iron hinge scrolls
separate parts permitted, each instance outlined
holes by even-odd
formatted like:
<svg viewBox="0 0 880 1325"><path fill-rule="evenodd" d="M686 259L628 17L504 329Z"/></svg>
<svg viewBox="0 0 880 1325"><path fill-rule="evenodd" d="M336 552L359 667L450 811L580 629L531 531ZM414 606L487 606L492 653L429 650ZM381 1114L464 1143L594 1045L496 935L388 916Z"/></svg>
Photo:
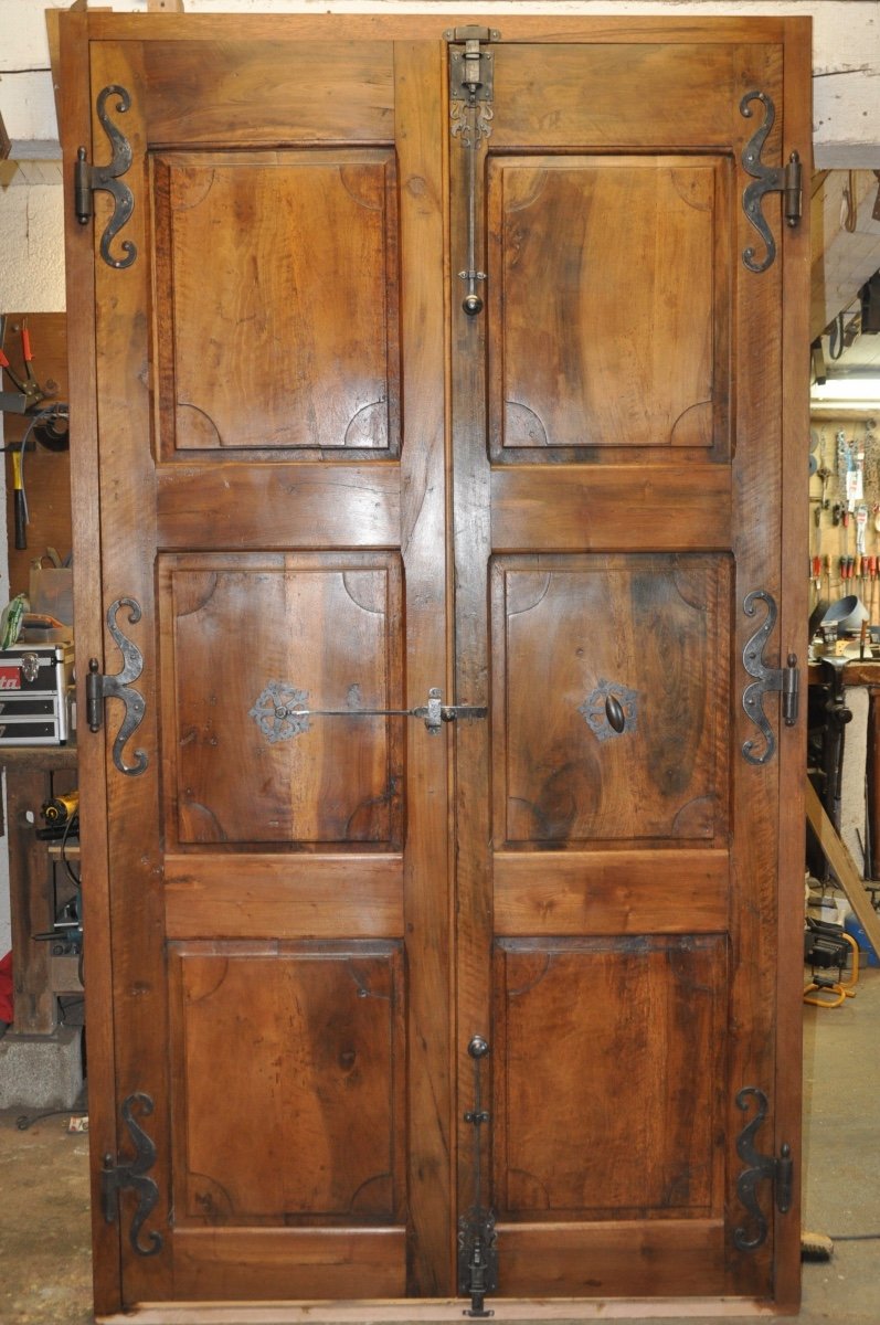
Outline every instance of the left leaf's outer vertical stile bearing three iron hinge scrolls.
<svg viewBox="0 0 880 1325"><path fill-rule="evenodd" d="M119 1117L126 1101L146 1094L148 1116L135 1106L135 1120L155 1145L150 1178L158 1186L158 1203L140 1234L142 1247L151 1232L160 1236L155 1252L137 1251L129 1230L137 1208L130 1194L119 1198L123 1297L126 1302L160 1300L172 1292L171 1238L171 1121L170 1068L167 1060L168 1007L164 954L164 890L156 828L160 822L160 761L158 755L158 623L155 607L156 529L152 493L155 466L151 447L148 366L150 327L139 311L150 306L148 248L148 131L144 117L146 86L138 44L95 44L91 54L91 89L119 85L130 95L127 111L118 110L118 97L107 98L110 119L131 146L133 166L126 175L135 205L125 231L113 241L121 254L122 241L135 245L137 257L126 268L113 268L95 256L98 423L101 432L99 500L102 511L102 612L113 603L131 599L137 613L122 606L115 624L137 644L143 672L135 686L146 705L143 722L123 750L126 763L134 750L146 754L146 768L137 776L123 774L107 758L109 845L113 861L110 943L114 959L114 1015L117 1040L117 1097ZM94 122L93 140L105 159L103 129ZM111 213L109 199L95 201L94 244ZM115 644L105 633L105 668L121 666ZM105 750L109 751L121 722L119 705L105 713ZM119 1128L119 1145L130 1157L131 1138ZM117 1155L111 1157L113 1163ZM159 1234L159 1230L162 1232Z"/></svg>

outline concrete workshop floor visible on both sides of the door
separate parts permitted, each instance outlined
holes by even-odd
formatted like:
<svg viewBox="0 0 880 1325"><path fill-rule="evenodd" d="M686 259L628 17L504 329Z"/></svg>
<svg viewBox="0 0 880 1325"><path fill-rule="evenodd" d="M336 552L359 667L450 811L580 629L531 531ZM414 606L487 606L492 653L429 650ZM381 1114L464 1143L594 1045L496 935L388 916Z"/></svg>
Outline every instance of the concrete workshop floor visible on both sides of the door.
<svg viewBox="0 0 880 1325"><path fill-rule="evenodd" d="M877 969L843 1007L804 1007L803 1226L835 1252L803 1267L800 1325L880 1322L879 1031ZM66 1117L19 1132L19 1112L0 1113L0 1325L91 1325L86 1137Z"/></svg>

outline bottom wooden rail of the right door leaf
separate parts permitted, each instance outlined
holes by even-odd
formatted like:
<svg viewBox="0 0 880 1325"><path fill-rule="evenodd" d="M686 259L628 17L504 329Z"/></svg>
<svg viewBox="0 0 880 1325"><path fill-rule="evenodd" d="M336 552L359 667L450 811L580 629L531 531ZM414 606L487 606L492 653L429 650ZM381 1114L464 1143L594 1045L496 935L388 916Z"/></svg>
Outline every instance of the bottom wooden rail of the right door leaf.
<svg viewBox="0 0 880 1325"><path fill-rule="evenodd" d="M509 1293L541 1287L549 1297L595 1298L626 1283L633 1296L665 1297L724 1288L722 1219L498 1224L498 1248Z"/></svg>

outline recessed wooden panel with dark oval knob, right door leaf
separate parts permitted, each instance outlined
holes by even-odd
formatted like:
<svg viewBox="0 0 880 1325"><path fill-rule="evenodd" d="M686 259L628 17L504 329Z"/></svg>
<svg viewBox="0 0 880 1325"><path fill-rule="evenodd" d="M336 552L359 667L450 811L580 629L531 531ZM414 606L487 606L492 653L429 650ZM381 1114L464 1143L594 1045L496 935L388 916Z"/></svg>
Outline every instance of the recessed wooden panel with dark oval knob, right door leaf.
<svg viewBox="0 0 880 1325"><path fill-rule="evenodd" d="M725 832L728 595L724 558L493 564L498 845Z"/></svg>

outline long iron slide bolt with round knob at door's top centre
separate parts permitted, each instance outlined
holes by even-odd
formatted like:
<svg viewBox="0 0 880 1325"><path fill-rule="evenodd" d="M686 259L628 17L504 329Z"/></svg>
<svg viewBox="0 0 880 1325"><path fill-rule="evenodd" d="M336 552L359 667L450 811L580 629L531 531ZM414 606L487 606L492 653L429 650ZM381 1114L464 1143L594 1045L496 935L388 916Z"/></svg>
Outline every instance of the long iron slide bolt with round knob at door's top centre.
<svg viewBox="0 0 880 1325"><path fill-rule="evenodd" d="M444 37L449 46L449 119L452 136L461 139L468 154L468 256L459 278L468 286L461 307L469 318L482 311L477 282L486 273L477 268L477 156L480 144L492 132L494 95L493 56L486 42L500 41L497 28L448 28Z"/></svg>

